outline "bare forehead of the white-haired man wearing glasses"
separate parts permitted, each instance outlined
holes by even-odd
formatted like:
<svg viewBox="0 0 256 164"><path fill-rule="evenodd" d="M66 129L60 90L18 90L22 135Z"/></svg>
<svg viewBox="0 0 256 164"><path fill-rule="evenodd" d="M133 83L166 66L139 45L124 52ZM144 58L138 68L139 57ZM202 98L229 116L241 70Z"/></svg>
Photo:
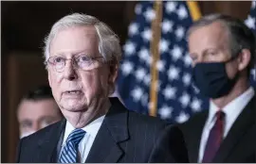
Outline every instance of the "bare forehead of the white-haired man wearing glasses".
<svg viewBox="0 0 256 164"><path fill-rule="evenodd" d="M99 53L99 36L93 25L65 27L50 44L50 57Z"/></svg>

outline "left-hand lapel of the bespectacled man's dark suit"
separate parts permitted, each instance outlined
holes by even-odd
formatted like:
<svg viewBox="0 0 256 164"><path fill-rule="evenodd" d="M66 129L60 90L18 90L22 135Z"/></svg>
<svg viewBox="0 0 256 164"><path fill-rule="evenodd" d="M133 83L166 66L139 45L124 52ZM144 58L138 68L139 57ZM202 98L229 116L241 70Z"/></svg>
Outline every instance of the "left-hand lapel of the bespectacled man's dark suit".
<svg viewBox="0 0 256 164"><path fill-rule="evenodd" d="M51 128L46 133L46 136L38 141L39 161L56 162L57 159L57 145L64 130L65 120L56 124L57 127ZM44 156L46 155L46 156Z"/></svg>

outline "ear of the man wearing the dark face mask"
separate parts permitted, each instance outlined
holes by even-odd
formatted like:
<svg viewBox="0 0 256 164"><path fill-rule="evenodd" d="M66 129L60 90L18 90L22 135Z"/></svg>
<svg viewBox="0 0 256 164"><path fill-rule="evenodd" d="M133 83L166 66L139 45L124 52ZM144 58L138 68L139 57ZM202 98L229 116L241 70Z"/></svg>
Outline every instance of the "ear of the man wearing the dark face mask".
<svg viewBox="0 0 256 164"><path fill-rule="evenodd" d="M245 70L249 63L250 63L250 57L251 54L248 49L243 49L240 53L240 56L238 57L238 70L242 71Z"/></svg>

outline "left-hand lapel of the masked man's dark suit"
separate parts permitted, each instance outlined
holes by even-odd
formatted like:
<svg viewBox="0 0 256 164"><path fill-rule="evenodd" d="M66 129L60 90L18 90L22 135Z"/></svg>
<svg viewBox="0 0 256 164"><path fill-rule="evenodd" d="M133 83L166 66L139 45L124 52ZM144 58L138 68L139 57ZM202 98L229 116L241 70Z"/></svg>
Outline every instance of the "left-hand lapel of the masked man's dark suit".
<svg viewBox="0 0 256 164"><path fill-rule="evenodd" d="M192 141L191 144L189 144L188 146L188 150L189 150L189 157L190 157L190 161L192 163L197 163L198 160L198 156L199 156L199 148L200 148L200 141L201 141L201 136L202 136L202 132L203 132L203 128L204 125L207 121L208 118L208 110L206 110L203 113L200 113L198 115L198 118L194 119L194 123L192 124L192 129L190 130L190 132L192 132L191 135L191 139Z"/></svg>

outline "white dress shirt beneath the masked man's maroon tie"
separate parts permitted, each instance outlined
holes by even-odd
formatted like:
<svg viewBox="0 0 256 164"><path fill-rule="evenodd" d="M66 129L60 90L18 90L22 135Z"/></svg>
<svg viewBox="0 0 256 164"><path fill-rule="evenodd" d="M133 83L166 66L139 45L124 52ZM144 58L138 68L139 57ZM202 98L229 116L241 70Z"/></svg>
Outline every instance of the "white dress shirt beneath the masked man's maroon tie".
<svg viewBox="0 0 256 164"><path fill-rule="evenodd" d="M254 95L254 90L252 87L250 87L240 96L232 100L227 106L222 108L222 111L224 111L225 113L223 139L227 137L230 127L235 122L239 114L243 111L243 109L247 106L248 102L253 97L253 95ZM210 129L213 127L214 123L216 122L215 114L218 110L219 110L219 107L216 107L216 105L214 105L213 102L210 101L210 110L209 110L208 119L205 123L203 133L201 136L198 162L201 162L203 159L207 140L210 134Z"/></svg>

